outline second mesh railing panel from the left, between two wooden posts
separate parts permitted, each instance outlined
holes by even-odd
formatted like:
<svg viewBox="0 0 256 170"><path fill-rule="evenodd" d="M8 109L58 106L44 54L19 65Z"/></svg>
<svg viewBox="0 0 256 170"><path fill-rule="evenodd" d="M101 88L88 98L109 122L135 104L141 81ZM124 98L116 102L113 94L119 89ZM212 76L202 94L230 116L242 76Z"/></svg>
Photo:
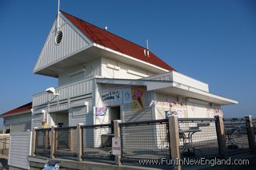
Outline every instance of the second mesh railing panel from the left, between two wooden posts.
<svg viewBox="0 0 256 170"><path fill-rule="evenodd" d="M54 128L54 156L77 156L77 127Z"/></svg>

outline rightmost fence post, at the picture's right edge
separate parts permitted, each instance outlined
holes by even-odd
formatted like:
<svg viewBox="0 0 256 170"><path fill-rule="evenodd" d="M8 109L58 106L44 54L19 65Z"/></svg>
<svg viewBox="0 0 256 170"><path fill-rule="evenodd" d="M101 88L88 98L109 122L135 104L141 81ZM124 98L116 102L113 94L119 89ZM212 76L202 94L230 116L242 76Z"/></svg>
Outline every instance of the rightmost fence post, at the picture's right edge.
<svg viewBox="0 0 256 170"><path fill-rule="evenodd" d="M255 136L254 136L254 127L253 127L253 120L252 117L246 116L246 129L247 129L247 136L248 136L248 142L250 147L251 153L256 153L256 144L255 144Z"/></svg>

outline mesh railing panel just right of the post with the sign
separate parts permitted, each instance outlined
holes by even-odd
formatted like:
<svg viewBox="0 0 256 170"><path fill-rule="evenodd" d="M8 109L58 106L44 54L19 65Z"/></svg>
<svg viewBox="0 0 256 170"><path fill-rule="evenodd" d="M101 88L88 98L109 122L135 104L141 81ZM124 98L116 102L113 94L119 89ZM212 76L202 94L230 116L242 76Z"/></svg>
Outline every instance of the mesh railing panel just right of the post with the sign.
<svg viewBox="0 0 256 170"><path fill-rule="evenodd" d="M121 123L122 161L170 159L168 120Z"/></svg>

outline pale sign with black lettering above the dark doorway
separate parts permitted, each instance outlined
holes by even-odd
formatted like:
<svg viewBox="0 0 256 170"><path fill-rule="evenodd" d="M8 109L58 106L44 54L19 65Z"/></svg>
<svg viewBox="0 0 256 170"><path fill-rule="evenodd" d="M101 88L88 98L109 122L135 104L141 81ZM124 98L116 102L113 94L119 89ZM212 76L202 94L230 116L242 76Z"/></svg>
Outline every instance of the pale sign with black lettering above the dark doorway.
<svg viewBox="0 0 256 170"><path fill-rule="evenodd" d="M122 89L109 89L102 93L102 102L104 105L121 105Z"/></svg>

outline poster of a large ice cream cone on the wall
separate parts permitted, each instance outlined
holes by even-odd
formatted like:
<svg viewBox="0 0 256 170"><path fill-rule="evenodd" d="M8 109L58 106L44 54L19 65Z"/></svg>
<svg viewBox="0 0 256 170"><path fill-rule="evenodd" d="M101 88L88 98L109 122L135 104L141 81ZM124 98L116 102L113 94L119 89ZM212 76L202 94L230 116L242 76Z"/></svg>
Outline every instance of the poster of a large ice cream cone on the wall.
<svg viewBox="0 0 256 170"><path fill-rule="evenodd" d="M131 88L132 109L139 110L144 108L144 87Z"/></svg>

